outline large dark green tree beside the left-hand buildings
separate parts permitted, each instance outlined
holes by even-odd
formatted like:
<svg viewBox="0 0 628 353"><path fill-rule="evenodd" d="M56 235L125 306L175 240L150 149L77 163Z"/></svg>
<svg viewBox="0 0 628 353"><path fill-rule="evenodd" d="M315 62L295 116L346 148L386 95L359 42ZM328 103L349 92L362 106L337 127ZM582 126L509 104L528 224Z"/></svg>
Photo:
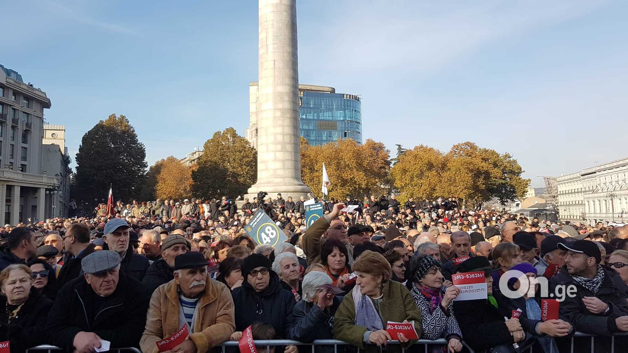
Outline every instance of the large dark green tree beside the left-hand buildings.
<svg viewBox="0 0 628 353"><path fill-rule="evenodd" d="M144 185L146 148L124 115L111 114L83 135L76 155L76 197L92 204L107 197L137 197Z"/></svg>

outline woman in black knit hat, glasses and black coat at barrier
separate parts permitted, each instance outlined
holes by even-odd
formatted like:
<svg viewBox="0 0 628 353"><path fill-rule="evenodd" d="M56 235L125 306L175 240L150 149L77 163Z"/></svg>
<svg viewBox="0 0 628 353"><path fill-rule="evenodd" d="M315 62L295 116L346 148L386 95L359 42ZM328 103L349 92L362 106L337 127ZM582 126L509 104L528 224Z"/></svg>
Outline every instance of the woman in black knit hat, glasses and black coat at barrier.
<svg viewBox="0 0 628 353"><path fill-rule="evenodd" d="M241 272L242 286L231 293L236 311L236 332L231 340L239 340L242 331L256 321L273 325L278 339L289 339L295 322L295 296L282 288L271 261L263 254L252 254L242 261ZM286 347L285 353L296 353L296 345Z"/></svg>

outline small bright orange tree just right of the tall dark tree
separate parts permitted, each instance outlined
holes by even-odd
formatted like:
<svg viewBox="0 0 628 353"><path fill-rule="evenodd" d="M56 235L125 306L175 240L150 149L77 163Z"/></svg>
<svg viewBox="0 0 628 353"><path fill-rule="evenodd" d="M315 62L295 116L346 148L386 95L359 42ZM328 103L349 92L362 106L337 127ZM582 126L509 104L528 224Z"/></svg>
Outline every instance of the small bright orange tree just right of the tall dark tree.
<svg viewBox="0 0 628 353"><path fill-rule="evenodd" d="M190 196L192 168L185 166L173 156L163 160L157 175L156 194L159 198L180 200Z"/></svg>

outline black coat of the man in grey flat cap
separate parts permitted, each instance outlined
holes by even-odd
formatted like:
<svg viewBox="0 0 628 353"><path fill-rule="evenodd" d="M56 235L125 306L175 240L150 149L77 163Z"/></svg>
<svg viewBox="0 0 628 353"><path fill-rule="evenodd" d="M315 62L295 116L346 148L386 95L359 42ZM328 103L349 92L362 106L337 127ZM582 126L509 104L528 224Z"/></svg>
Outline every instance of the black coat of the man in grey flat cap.
<svg viewBox="0 0 628 353"><path fill-rule="evenodd" d="M112 295L96 307L96 294L84 277L75 278L57 293L46 333L51 344L64 352L74 349L74 336L94 332L111 342L111 348L139 347L146 325L148 298L141 283L124 271Z"/></svg>

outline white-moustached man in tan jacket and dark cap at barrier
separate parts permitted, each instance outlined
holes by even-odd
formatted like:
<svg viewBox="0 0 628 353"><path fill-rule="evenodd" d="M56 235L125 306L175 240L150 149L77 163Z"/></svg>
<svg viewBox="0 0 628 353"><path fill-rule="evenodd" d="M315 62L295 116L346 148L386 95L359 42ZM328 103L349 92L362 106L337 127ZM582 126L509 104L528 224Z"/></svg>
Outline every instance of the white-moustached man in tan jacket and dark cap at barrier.
<svg viewBox="0 0 628 353"><path fill-rule="evenodd" d="M176 256L175 279L159 286L151 297L140 341L142 352L157 353L155 342L183 325L190 335L172 352L208 352L236 330L229 288L210 278L208 264L198 252Z"/></svg>

